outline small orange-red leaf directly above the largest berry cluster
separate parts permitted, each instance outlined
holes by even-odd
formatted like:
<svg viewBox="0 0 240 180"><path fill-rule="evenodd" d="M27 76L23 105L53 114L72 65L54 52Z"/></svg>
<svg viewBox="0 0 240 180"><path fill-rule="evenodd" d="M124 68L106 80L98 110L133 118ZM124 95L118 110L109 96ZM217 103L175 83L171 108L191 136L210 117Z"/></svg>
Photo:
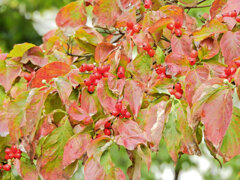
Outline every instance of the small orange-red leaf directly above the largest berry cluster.
<svg viewBox="0 0 240 180"><path fill-rule="evenodd" d="M98 44L95 49L95 61L103 63L114 49L116 49L116 47L110 43L103 42Z"/></svg>

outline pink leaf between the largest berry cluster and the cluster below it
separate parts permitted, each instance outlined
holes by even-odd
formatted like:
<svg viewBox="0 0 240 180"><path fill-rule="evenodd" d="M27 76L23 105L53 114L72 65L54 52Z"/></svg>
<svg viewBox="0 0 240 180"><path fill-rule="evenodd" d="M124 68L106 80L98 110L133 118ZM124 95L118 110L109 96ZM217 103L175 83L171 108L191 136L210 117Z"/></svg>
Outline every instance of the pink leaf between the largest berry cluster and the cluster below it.
<svg viewBox="0 0 240 180"><path fill-rule="evenodd" d="M102 79L98 82L97 95L105 111L110 113L115 110L117 99L111 94L110 90L108 89L106 80Z"/></svg>

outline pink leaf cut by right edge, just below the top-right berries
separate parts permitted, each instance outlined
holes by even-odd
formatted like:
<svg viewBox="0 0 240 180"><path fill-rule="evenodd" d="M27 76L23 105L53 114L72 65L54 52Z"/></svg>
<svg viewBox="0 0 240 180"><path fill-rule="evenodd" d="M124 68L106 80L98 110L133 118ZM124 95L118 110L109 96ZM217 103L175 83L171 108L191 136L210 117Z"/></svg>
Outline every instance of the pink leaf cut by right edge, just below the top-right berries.
<svg viewBox="0 0 240 180"><path fill-rule="evenodd" d="M220 41L220 47L226 64L231 64L233 59L240 57L240 31L226 32Z"/></svg>

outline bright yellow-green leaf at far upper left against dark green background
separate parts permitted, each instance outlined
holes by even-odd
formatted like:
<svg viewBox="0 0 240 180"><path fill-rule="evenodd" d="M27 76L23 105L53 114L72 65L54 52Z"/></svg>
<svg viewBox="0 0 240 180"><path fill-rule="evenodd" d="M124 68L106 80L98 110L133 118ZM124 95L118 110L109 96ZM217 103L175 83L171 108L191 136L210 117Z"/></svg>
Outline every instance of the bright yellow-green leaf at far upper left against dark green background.
<svg viewBox="0 0 240 180"><path fill-rule="evenodd" d="M23 43L23 44L16 44L13 46L13 49L8 54L8 57L22 57L23 54L29 50L30 48L34 47L34 44L31 43Z"/></svg>

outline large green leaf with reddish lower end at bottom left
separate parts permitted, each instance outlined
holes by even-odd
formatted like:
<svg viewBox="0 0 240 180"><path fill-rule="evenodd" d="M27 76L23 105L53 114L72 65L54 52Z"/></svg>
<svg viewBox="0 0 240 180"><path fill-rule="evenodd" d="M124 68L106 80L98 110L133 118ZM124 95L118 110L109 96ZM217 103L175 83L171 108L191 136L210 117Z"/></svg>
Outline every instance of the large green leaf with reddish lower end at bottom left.
<svg viewBox="0 0 240 180"><path fill-rule="evenodd" d="M67 117L61 121L61 124L47 136L41 146L41 156L37 160L41 175L46 180L63 178L64 147L73 132Z"/></svg>

